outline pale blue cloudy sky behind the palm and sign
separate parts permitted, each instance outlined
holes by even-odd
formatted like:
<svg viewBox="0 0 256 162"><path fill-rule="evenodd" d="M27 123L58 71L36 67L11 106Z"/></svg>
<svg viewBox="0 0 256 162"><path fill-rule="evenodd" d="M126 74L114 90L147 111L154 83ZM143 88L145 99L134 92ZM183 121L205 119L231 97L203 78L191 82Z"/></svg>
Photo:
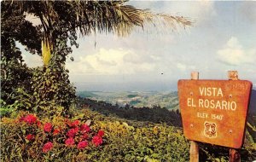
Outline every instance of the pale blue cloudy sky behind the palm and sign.
<svg viewBox="0 0 256 162"><path fill-rule="evenodd" d="M119 38L96 33L79 38L74 61L67 59L77 90L177 90L178 79L199 72L201 79L224 79L230 70L256 87L256 2L130 1L138 9L180 15L194 21L186 29L135 28ZM33 21L33 20L32 20ZM35 20L34 20L35 21ZM160 31L160 32L159 32ZM38 55L23 53L29 67Z"/></svg>

